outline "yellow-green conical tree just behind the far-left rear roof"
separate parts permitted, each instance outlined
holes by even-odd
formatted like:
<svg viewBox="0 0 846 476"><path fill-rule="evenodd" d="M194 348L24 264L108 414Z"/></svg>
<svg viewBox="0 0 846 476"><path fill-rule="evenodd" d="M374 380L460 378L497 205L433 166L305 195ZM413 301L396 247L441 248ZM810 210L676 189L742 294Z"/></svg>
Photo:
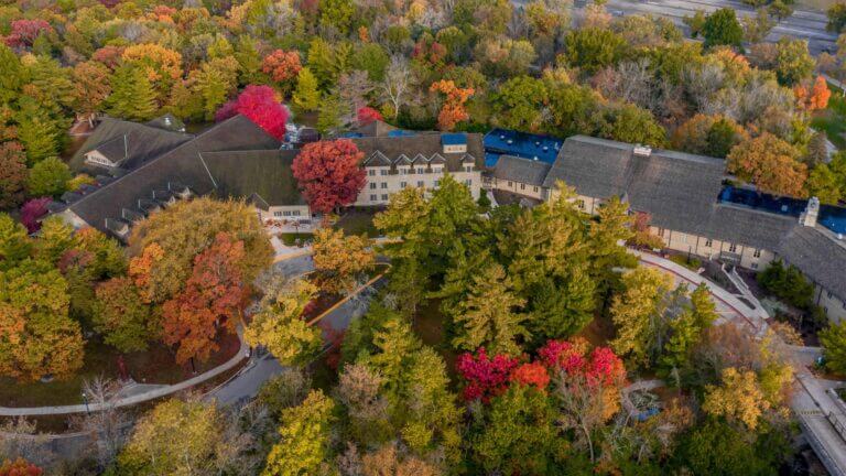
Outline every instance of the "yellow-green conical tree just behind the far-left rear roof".
<svg viewBox="0 0 846 476"><path fill-rule="evenodd" d="M128 120L150 120L159 109L155 97L155 89L143 68L123 65L115 71L108 99L112 115Z"/></svg>

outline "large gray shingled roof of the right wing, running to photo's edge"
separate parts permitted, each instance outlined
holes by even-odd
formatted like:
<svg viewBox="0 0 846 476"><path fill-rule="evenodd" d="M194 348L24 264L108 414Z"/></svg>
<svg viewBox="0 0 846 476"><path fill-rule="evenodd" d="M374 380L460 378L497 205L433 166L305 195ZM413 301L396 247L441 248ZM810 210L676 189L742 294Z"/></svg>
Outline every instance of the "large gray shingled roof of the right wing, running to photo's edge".
<svg viewBox="0 0 846 476"><path fill-rule="evenodd" d="M564 142L544 186L562 180L579 195L617 195L649 213L657 227L774 251L846 300L846 245L792 216L719 203L724 170L720 159L664 150L638 155L631 144L575 136Z"/></svg>

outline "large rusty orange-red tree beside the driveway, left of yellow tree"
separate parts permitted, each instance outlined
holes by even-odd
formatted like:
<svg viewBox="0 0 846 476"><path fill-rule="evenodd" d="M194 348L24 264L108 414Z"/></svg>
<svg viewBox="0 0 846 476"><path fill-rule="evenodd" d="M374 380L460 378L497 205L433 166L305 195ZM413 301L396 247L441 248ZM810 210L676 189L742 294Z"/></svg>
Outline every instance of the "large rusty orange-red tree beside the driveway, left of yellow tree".
<svg viewBox="0 0 846 476"><path fill-rule="evenodd" d="M218 349L219 329L234 333L247 298L239 263L243 241L218 234L215 241L194 258L185 290L163 306L163 340L177 345L176 361L207 360Z"/></svg>

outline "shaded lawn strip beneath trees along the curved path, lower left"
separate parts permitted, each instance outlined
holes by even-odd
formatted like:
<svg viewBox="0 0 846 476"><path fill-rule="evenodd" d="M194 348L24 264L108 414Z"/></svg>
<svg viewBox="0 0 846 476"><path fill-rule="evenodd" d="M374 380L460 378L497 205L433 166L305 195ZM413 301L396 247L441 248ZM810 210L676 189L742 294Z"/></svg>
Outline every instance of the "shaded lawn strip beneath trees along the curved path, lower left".
<svg viewBox="0 0 846 476"><path fill-rule="evenodd" d="M229 358L240 345L235 335L226 335L218 342L220 349L206 363L196 363L197 372L212 369ZM97 376L118 378L118 357L121 354L98 339L89 339L85 346L85 363L79 372L67 380L20 383L11 378L0 378L0 405L42 407L83 403L82 390L86 380ZM176 383L193 377L191 364L177 365L174 354L156 343L143 353L123 355L127 371L139 383Z"/></svg>

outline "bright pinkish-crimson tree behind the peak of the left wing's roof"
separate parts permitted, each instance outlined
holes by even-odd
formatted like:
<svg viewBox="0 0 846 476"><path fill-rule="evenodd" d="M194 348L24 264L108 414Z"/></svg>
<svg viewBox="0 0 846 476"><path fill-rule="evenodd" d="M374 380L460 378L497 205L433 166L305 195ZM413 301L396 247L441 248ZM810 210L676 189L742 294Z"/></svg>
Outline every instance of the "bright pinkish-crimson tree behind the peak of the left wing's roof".
<svg viewBox="0 0 846 476"><path fill-rule="evenodd" d="M247 86L237 99L220 107L215 120L219 122L239 113L276 139L285 136L288 109L276 99L276 93L270 86Z"/></svg>

